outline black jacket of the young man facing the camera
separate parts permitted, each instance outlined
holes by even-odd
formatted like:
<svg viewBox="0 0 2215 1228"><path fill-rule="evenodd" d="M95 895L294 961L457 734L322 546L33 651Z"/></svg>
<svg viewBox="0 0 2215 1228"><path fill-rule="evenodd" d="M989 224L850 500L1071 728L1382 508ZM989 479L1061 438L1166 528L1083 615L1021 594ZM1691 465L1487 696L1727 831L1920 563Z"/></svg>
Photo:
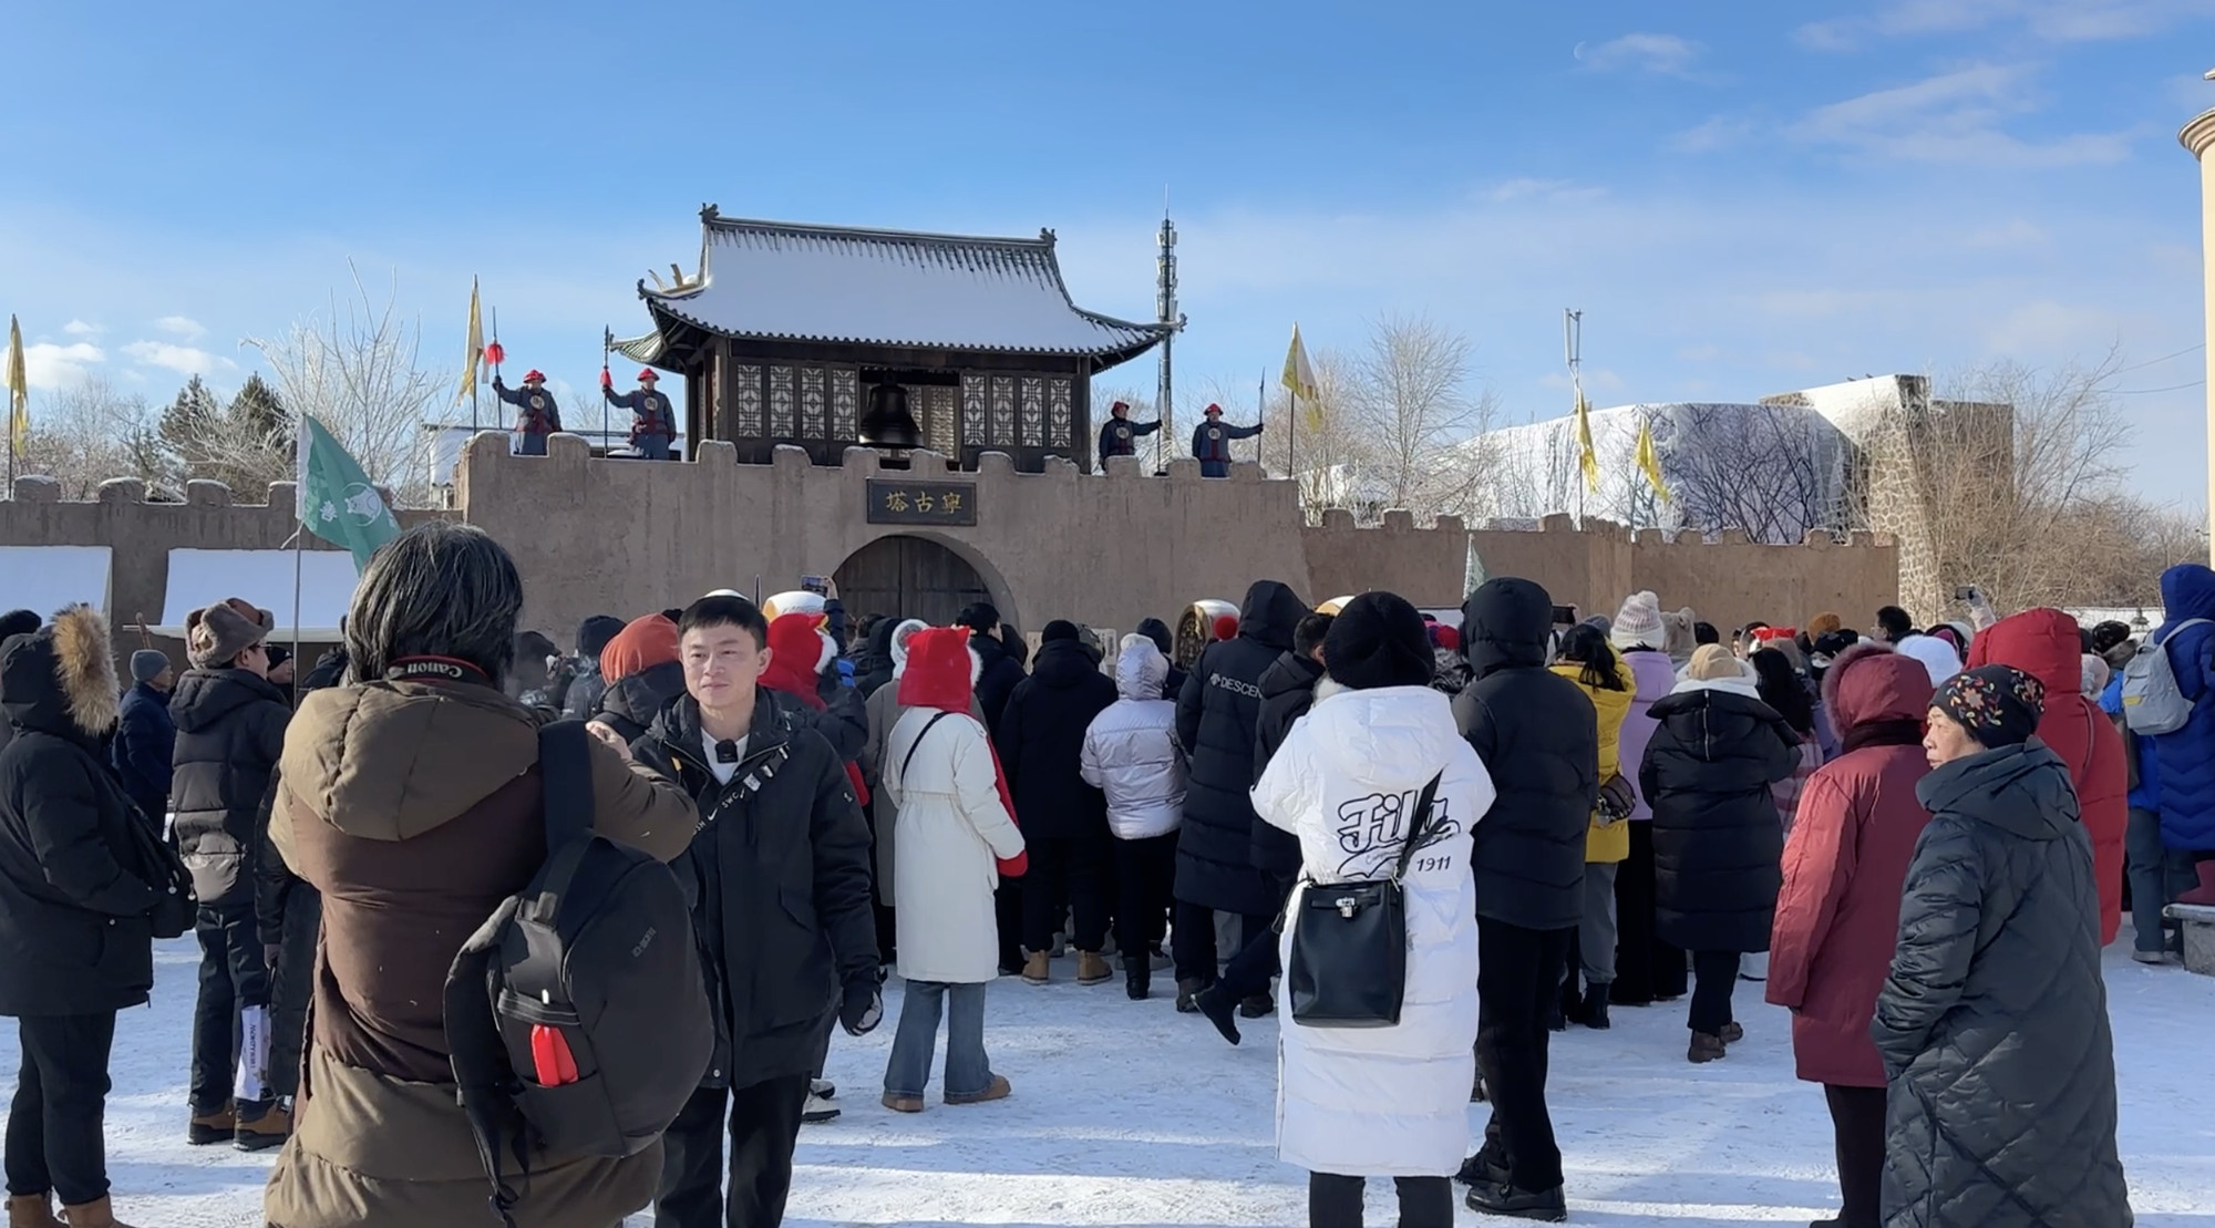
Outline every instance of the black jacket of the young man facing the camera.
<svg viewBox="0 0 2215 1228"><path fill-rule="evenodd" d="M638 763L684 785L700 807L700 831L669 869L693 898L715 1006L715 1060L702 1086L811 1073L844 986L877 984L868 825L813 716L762 687L729 785L707 763L691 696L631 745Z"/></svg>

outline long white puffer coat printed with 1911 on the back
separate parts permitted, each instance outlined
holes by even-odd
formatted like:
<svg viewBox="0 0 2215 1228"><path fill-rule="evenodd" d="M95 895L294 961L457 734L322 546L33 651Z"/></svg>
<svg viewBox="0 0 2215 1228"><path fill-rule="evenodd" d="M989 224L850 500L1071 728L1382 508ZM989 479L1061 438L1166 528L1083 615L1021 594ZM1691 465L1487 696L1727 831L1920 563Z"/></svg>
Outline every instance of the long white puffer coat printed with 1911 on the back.
<svg viewBox="0 0 2215 1228"><path fill-rule="evenodd" d="M1387 878L1433 776L1444 836L1409 864L1407 997L1391 1029L1309 1029L1291 1020L1289 978L1276 1153L1309 1173L1446 1177L1469 1142L1477 1042L1477 909L1471 829L1493 780L1431 687L1320 698L1254 785L1254 811L1300 838L1302 884ZM1291 927L1282 955L1291 966Z"/></svg>

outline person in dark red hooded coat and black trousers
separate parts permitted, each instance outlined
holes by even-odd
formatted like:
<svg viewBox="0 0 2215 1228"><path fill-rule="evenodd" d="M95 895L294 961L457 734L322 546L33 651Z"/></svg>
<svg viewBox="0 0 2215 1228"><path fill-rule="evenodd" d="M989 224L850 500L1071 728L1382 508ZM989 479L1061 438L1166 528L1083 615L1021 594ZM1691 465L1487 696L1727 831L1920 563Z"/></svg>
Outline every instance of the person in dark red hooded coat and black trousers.
<svg viewBox="0 0 2215 1228"><path fill-rule="evenodd" d="M1770 935L1768 1000L1792 1009L1799 1077L1823 1084L1838 1139L1832 1224L1876 1228L1885 1170L1885 1064L1869 1040L1876 995L1900 931L1900 887L1929 811L1916 800L1923 663L1881 645L1850 647L1823 676L1843 754L1816 771L1785 842L1785 884Z"/></svg>

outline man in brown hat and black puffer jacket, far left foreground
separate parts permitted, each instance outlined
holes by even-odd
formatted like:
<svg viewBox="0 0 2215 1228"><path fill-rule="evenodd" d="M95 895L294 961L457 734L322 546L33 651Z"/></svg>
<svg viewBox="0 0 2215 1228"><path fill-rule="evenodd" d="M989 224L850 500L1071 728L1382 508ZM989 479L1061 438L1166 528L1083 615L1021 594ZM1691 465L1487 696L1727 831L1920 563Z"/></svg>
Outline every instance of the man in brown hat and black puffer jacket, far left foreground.
<svg viewBox="0 0 2215 1228"><path fill-rule="evenodd" d="M268 822L270 774L292 720L268 680L275 618L239 598L184 618L186 661L168 714L177 720L173 838L199 896L199 1004L193 1011L195 1146L248 1150L292 1133L268 1088L268 962L255 915L255 864ZM237 1079L233 1082L233 1060ZM233 1104L237 1091L237 1104Z"/></svg>

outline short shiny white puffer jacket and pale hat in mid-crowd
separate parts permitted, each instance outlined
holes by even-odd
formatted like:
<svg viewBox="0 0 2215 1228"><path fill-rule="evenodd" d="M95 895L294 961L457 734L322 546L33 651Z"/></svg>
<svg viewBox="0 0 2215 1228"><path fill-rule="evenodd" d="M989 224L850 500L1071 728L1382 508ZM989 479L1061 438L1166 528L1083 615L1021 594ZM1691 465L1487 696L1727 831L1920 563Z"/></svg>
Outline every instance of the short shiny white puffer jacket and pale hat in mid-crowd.
<svg viewBox="0 0 2215 1228"><path fill-rule="evenodd" d="M1161 698L1170 661L1154 641L1125 636L1116 658L1116 703L1092 718L1079 756L1085 785L1108 794L1116 840L1167 836L1185 820L1185 751L1176 705Z"/></svg>

